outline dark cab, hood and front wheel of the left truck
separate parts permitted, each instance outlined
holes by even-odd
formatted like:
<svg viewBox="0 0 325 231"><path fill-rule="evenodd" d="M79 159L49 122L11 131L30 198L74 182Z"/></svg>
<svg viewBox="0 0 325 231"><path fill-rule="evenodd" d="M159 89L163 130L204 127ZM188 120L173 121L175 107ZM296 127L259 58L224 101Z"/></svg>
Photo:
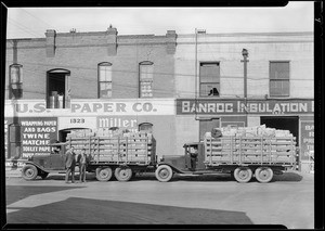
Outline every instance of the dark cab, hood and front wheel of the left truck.
<svg viewBox="0 0 325 231"><path fill-rule="evenodd" d="M25 180L34 180L37 176L46 179L50 172L65 171L65 146L66 143L53 143L51 153L48 155L32 155L22 169Z"/></svg>

